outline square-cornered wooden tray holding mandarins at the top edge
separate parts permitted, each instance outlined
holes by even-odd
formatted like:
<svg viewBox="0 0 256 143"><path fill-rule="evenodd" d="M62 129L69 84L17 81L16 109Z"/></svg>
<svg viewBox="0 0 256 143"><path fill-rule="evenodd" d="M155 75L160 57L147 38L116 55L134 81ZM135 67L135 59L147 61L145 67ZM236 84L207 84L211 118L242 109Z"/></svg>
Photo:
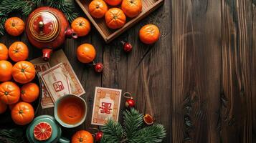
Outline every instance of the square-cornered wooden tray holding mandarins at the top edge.
<svg viewBox="0 0 256 143"><path fill-rule="evenodd" d="M142 0L142 11L141 14L136 16L133 19L129 19L127 17L126 24L120 28L120 29L109 29L108 26L105 24L105 18L103 17L102 19L94 19L92 16L90 16L89 11L88 11L88 6L90 4L91 0L75 0L77 1L77 4L81 7L82 11L85 12L87 15L88 19L93 23L93 25L98 29L100 32L101 36L103 36L103 39L107 43L115 39L117 36L122 34L124 31L127 29L131 28L134 24L136 24L138 21L143 19L144 17L148 16L152 11L154 11L156 8L161 6L163 4L164 0ZM109 6L108 7L113 7Z"/></svg>

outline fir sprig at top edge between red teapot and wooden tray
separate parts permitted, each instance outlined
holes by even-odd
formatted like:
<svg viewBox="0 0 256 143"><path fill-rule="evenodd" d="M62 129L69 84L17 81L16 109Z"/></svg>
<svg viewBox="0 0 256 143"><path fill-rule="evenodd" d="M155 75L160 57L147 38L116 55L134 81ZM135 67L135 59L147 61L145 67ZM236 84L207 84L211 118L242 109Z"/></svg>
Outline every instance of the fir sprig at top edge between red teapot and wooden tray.
<svg viewBox="0 0 256 143"><path fill-rule="evenodd" d="M72 1L47 0L46 3L48 6L60 9L67 17L67 20L70 22L72 22L78 16L77 12L75 12L75 7L74 4L72 4Z"/></svg>

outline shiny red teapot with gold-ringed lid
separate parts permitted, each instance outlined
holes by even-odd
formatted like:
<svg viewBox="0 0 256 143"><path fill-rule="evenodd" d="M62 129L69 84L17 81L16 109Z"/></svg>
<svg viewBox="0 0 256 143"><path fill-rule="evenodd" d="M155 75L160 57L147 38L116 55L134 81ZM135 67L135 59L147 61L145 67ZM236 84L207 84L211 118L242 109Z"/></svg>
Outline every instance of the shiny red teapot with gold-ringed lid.
<svg viewBox="0 0 256 143"><path fill-rule="evenodd" d="M66 37L77 38L65 14L48 6L35 9L29 14L26 34L33 46L42 49L44 60L49 59L52 50L62 45Z"/></svg>

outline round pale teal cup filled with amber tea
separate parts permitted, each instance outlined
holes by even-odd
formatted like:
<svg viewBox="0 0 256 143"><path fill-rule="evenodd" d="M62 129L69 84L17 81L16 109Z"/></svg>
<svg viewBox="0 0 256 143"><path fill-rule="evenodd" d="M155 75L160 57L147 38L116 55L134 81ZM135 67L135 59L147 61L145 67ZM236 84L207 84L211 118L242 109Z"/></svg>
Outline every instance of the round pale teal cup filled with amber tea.
<svg viewBox="0 0 256 143"><path fill-rule="evenodd" d="M78 116L78 115L80 116ZM66 94L54 104L54 117L63 127L73 128L85 122L87 105L84 99L73 94ZM65 122L64 119L69 119ZM79 119L79 121L75 121Z"/></svg>

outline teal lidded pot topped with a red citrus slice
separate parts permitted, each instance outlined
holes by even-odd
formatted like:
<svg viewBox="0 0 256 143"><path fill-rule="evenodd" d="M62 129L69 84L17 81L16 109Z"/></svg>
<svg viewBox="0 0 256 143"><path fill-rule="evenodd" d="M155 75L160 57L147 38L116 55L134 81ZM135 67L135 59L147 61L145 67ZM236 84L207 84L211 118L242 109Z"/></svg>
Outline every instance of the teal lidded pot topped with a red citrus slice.
<svg viewBox="0 0 256 143"><path fill-rule="evenodd" d="M42 133L45 132L48 132L47 138L42 136ZM57 124L54 117L49 115L41 115L36 117L27 127L26 133L27 139L30 143L70 143L70 140L61 136L62 129L60 128L59 124ZM44 139L39 138L40 135L41 137L44 137Z"/></svg>

